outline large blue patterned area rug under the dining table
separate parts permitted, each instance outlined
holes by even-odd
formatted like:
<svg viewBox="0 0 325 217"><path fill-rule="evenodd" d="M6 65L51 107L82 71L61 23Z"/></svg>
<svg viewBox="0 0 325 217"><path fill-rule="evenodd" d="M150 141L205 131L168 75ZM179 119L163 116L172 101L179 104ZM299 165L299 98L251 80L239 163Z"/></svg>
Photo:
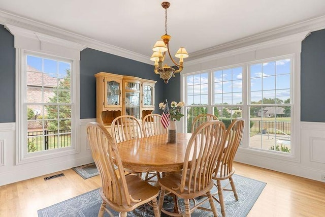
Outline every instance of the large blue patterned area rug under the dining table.
<svg viewBox="0 0 325 217"><path fill-rule="evenodd" d="M242 217L246 216L249 210L254 205L258 196L263 191L266 183L257 181L251 178L246 178L240 175L233 175L233 179L236 184L237 194L239 200L236 201L233 192L224 191L224 204L226 216ZM212 192L216 189L214 188ZM217 197L217 196L216 196ZM102 199L99 195L99 189L87 192L69 200L54 204L44 209L38 210L39 217L58 217L58 216L98 216L98 212L102 203ZM165 197L164 207L172 208L172 198ZM179 205L182 205L183 201L179 200ZM209 207L209 202L204 203ZM220 212L220 205L215 201L215 205L218 210L218 216L222 216ZM182 209L182 207L181 207ZM118 216L118 212L112 211L114 216ZM104 216L109 216L105 213ZM153 215L152 207L144 204L132 212L128 212L127 216L146 216L151 217ZM162 216L166 216L163 214ZM196 209L191 216L213 216L212 212Z"/></svg>

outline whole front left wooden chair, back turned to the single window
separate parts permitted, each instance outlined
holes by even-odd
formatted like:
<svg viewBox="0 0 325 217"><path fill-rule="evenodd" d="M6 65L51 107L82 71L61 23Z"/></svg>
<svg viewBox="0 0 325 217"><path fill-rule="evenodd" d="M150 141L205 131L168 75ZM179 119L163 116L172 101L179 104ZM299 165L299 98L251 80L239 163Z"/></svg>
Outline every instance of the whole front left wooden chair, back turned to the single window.
<svg viewBox="0 0 325 217"><path fill-rule="evenodd" d="M100 195L103 202L98 216L104 216L105 211L113 216L108 207L120 212L119 216L127 216L128 211L145 203L153 207L155 216L160 216L157 204L159 190L139 176L124 175L118 149L107 130L99 123L90 122L87 124L87 135L92 158L102 180Z"/></svg>

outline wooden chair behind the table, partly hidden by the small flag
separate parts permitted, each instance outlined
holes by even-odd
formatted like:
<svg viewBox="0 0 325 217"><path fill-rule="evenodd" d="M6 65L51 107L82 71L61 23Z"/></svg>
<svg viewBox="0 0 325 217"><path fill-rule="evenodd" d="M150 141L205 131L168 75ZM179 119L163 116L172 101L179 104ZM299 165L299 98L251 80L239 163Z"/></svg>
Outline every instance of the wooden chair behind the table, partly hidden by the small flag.
<svg viewBox="0 0 325 217"><path fill-rule="evenodd" d="M142 120L142 130L145 137L167 134L168 129L164 128L160 122L161 115L160 114L148 114ZM149 176L151 175L151 176ZM153 177L157 176L157 179L160 179L159 172L147 172L145 176L145 180L150 180Z"/></svg>

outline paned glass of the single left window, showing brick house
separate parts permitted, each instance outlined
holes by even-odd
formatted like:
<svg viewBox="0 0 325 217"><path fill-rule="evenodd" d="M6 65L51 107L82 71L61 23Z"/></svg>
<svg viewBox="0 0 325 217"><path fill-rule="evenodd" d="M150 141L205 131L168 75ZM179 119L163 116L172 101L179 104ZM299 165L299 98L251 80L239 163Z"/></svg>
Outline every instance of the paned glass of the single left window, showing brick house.
<svg viewBox="0 0 325 217"><path fill-rule="evenodd" d="M25 55L27 153L71 146L71 61Z"/></svg>

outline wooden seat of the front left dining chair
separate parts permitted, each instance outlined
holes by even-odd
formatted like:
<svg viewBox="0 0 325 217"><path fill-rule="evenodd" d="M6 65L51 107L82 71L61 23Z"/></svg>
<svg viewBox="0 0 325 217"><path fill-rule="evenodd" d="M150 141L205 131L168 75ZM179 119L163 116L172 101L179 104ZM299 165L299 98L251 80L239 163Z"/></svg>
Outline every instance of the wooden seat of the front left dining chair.
<svg viewBox="0 0 325 217"><path fill-rule="evenodd" d="M117 205L116 203L112 203L111 201L107 200L105 195L103 195L103 189L100 189L100 194L102 196L103 201L105 201L109 207L114 209L115 211L132 211L136 207L145 204L151 201L153 198L156 198L159 194L159 189L152 186L151 184L147 183L146 181L142 180L137 175L127 175L125 176L127 188L129 194L135 200L141 200L140 202L131 202L128 206L126 203L123 203L121 206ZM122 191L122 189L121 189ZM117 198L119 200L119 198Z"/></svg>

